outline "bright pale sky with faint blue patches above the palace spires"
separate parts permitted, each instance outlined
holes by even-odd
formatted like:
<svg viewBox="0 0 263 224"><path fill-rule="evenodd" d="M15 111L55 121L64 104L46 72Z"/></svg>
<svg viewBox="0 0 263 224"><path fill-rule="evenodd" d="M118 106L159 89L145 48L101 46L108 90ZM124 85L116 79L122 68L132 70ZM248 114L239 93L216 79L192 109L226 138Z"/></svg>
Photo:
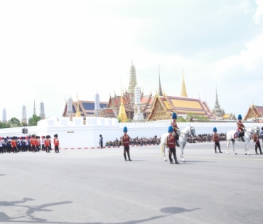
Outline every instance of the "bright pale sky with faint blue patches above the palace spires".
<svg viewBox="0 0 263 224"><path fill-rule="evenodd" d="M107 102L128 89L218 100L245 116L263 105L263 0L0 1L0 114L61 117L65 99ZM0 120L2 116L0 117Z"/></svg>

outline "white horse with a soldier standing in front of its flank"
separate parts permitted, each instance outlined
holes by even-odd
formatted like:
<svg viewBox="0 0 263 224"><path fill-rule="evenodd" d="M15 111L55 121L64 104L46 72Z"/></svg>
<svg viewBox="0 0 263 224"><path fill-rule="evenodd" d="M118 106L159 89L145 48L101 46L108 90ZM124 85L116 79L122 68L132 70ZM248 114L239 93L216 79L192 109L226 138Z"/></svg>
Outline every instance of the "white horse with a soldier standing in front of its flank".
<svg viewBox="0 0 263 224"><path fill-rule="evenodd" d="M168 132L163 134L161 136L161 143L160 143L160 147L161 147L161 154L164 157L164 161L167 161L166 159L166 143L167 143L167 137L168 137ZM181 131L180 135L179 135L179 139L178 141L176 141L181 148L181 161L182 162L186 162L185 159L183 158L183 149L186 146L186 139L188 137L188 135L192 135L193 137L195 136L195 128L191 127L190 125L188 127L186 127L185 129L183 129L183 131Z"/></svg>

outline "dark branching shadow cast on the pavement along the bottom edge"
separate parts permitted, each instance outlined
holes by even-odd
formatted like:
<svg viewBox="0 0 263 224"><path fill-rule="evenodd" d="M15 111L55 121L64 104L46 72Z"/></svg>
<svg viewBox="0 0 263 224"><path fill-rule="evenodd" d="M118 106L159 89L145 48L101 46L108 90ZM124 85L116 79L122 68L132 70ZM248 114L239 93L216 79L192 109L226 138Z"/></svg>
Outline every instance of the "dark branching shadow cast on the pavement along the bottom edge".
<svg viewBox="0 0 263 224"><path fill-rule="evenodd" d="M55 203L46 203L40 206L26 206L23 205L23 203L26 203L28 201L34 201L32 198L23 198L21 201L0 201L0 206L6 206L6 207L17 207L18 210L21 212L21 210L26 208L26 212L14 215L13 217L9 217L9 215L6 215L6 213L0 212L0 223L53 223L53 224L71 224L71 222L60 222L60 221L48 221L43 218L36 218L34 217L34 213L36 212L49 212L53 211L52 209L47 209L51 206L60 206L63 204L73 203L72 201L61 201L61 202L55 202ZM158 216L152 216L150 218L145 218L141 220L129 220L126 222L119 222L119 223L72 223L72 224L136 224L136 223L144 223L146 221L151 220L157 220L161 218L168 217L170 215L178 214L178 213L188 213L192 212L194 210L198 210L200 208L194 208L194 209L186 209L186 208L178 208L178 207L167 207L167 208L161 208L160 212L164 213L164 215L158 215ZM21 220L21 219L27 219L27 220Z"/></svg>

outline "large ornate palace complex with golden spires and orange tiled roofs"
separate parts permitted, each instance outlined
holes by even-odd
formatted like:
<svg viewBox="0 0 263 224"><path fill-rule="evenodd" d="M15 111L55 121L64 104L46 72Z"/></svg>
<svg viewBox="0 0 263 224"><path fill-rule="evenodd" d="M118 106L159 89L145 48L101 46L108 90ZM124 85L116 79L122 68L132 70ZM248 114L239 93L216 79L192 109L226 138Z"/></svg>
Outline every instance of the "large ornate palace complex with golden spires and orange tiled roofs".
<svg viewBox="0 0 263 224"><path fill-rule="evenodd" d="M97 96L98 97L98 96ZM100 97L99 97L100 98ZM72 99L71 99L72 100ZM68 109L68 105L70 109ZM71 109L72 105L72 109ZM108 102L96 102L77 100L77 102L65 103L63 117L108 117L119 118L122 122L127 120L155 121L171 119L171 114L176 112L178 117L186 117L187 114L196 114L208 119L235 119L235 114L225 114L218 102L216 90L215 108L210 110L208 103L199 98L188 97L186 82L182 73L181 96L168 96L161 87L161 75L159 68L159 89L155 95L144 95L144 91L137 85L136 69L134 63L129 68L129 90L122 90L121 95L109 95ZM100 107L98 106L100 105Z"/></svg>

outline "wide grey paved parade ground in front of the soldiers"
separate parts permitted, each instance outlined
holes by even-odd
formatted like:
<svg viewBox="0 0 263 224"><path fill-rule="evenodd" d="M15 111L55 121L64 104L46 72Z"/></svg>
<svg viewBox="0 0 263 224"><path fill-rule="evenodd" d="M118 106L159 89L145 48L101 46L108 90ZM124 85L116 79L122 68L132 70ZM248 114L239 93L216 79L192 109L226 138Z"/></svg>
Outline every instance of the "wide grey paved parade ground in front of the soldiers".
<svg viewBox="0 0 263 224"><path fill-rule="evenodd" d="M221 146L188 144L178 165L159 146L0 154L0 223L262 223L263 155Z"/></svg>

